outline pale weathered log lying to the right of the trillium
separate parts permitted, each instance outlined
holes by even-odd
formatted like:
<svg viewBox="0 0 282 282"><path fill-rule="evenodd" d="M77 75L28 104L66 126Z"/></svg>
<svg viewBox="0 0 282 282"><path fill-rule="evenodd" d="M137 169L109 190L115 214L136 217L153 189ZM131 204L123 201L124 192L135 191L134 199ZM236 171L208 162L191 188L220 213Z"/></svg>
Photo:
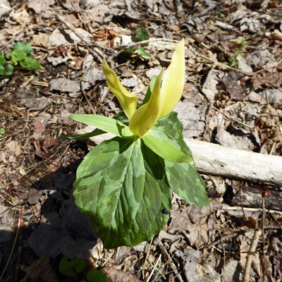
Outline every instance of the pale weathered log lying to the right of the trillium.
<svg viewBox="0 0 282 282"><path fill-rule="evenodd" d="M185 142L200 173L282 187L282 157L191 139L185 139Z"/></svg>

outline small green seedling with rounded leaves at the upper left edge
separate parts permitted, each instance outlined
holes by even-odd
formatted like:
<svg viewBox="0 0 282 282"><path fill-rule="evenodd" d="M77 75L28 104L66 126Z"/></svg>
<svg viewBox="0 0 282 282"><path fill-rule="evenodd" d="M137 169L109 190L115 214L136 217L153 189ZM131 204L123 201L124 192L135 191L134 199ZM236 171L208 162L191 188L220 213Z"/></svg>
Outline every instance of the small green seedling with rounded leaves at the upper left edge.
<svg viewBox="0 0 282 282"><path fill-rule="evenodd" d="M6 61L6 57L0 51L0 76L12 75L17 66L28 71L38 71L41 68L39 61L28 56L32 53L29 42L18 42L12 49L8 50L8 56L11 58L9 61Z"/></svg>

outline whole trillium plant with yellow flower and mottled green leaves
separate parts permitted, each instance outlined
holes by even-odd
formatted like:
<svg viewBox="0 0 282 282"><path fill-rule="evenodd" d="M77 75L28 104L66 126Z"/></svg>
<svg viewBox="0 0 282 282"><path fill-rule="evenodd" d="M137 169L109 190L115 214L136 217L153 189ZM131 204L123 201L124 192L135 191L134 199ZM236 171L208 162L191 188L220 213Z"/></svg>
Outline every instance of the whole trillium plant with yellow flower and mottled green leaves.
<svg viewBox="0 0 282 282"><path fill-rule="evenodd" d="M191 204L209 204L204 182L183 140L183 125L173 112L185 82L184 49L182 39L166 72L163 69L152 79L141 105L104 59L106 81L123 111L114 118L71 116L97 129L65 139L106 132L116 135L87 154L78 167L73 192L75 203L106 248L138 245L159 233L168 221L172 191Z"/></svg>

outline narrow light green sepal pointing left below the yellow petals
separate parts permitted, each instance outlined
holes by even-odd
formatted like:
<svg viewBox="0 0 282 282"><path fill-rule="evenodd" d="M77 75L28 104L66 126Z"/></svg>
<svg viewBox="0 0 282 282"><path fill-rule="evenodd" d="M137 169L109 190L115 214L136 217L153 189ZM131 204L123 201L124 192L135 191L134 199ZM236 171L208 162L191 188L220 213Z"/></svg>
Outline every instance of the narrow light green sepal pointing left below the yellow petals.
<svg viewBox="0 0 282 282"><path fill-rule="evenodd" d="M94 114L74 114L71 115L71 119L80 121L80 123L95 126L96 128L112 133L118 137L133 138L136 136L133 135L127 125L114 118Z"/></svg>

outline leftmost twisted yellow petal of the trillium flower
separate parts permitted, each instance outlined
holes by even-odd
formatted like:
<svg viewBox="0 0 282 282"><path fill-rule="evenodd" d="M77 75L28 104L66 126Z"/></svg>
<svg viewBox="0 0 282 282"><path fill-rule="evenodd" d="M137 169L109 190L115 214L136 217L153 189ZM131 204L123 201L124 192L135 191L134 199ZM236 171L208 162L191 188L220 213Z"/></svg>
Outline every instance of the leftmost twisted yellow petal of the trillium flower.
<svg viewBox="0 0 282 282"><path fill-rule="evenodd" d="M105 59L103 59L102 67L104 75L106 76L106 82L108 83L111 92L113 92L116 98L118 98L118 102L121 104L123 111L130 119L136 111L138 97L131 94L130 92L128 92L128 90L125 89L125 87L123 87L121 82L118 80L116 73L111 70Z"/></svg>

